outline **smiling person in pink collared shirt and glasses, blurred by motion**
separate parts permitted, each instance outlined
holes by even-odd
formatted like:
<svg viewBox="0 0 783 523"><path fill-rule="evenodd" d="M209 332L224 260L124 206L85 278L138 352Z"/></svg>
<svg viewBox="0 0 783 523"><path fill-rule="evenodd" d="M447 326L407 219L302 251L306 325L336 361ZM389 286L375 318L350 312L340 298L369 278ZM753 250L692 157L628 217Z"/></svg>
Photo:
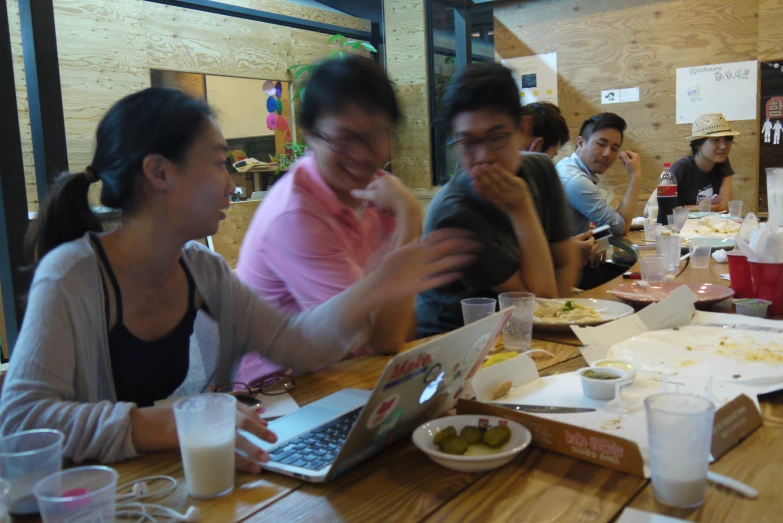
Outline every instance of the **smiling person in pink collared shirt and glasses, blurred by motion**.
<svg viewBox="0 0 783 523"><path fill-rule="evenodd" d="M400 120L394 90L368 58L328 60L307 84L300 128L308 153L267 194L239 252L237 275L288 311L307 310L362 278L376 256L421 235L421 205L381 167ZM413 297L378 310L361 353L392 353L413 339ZM243 359L236 380L279 371Z"/></svg>

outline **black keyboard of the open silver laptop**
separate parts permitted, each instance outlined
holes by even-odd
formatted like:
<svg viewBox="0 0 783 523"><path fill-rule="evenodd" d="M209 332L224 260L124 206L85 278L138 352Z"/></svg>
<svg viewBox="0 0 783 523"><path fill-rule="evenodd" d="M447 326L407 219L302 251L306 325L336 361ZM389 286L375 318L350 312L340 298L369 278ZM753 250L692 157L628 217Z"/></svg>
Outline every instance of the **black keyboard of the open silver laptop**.
<svg viewBox="0 0 783 523"><path fill-rule="evenodd" d="M271 461L309 470L321 470L331 465L363 408L343 414L276 448L269 453Z"/></svg>

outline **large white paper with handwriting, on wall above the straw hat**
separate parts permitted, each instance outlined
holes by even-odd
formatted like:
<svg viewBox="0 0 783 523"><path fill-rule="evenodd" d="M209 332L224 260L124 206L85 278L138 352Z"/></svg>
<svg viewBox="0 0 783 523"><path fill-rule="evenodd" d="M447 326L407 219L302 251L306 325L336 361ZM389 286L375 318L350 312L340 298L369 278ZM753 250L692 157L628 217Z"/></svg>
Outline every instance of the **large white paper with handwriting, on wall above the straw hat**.
<svg viewBox="0 0 783 523"><path fill-rule="evenodd" d="M700 65L677 69L677 123L704 113L727 120L755 120L758 62Z"/></svg>

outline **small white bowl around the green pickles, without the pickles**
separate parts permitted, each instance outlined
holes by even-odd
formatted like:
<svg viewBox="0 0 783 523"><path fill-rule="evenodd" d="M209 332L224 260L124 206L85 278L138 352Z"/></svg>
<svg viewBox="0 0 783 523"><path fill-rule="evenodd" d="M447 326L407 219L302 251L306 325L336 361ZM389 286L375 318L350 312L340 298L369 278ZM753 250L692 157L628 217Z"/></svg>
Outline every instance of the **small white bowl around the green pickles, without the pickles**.
<svg viewBox="0 0 783 523"><path fill-rule="evenodd" d="M488 454L486 456L457 456L441 452L432 441L438 432L448 426L453 426L457 429L457 433L459 433L459 431L462 430L462 427L467 425L473 425L474 427L478 426L479 420L482 419L487 420L491 427L494 427L495 425L498 425L500 421L503 421L508 425L508 428L511 429L511 439L508 440L500 452ZM457 472L484 472L502 467L514 459L517 454L530 445L530 442L533 441L533 436L530 434L529 430L515 421L499 418L497 416L463 414L428 421L413 431L412 439L413 444L419 447L421 451L426 453L430 459L438 465L444 466L447 469L456 470Z"/></svg>

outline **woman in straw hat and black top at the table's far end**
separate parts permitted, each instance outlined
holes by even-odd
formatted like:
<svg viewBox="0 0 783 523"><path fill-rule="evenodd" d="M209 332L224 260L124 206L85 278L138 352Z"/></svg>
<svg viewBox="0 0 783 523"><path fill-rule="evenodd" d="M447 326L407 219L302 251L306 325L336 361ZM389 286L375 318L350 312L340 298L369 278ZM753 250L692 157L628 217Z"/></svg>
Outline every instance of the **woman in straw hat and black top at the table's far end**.
<svg viewBox="0 0 783 523"><path fill-rule="evenodd" d="M691 155L672 165L677 178L677 204L698 211L698 197L712 189L712 211L728 209L731 200L731 176L734 170L729 153L734 137L729 122L721 113L702 114L693 121L692 136L687 140Z"/></svg>

